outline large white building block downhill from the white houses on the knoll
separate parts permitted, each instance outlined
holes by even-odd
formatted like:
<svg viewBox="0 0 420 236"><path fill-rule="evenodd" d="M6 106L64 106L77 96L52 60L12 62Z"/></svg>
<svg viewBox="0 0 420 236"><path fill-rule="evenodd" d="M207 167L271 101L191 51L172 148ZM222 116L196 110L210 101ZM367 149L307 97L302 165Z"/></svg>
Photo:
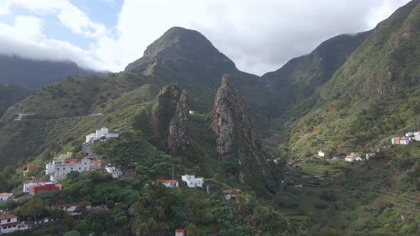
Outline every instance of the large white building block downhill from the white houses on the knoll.
<svg viewBox="0 0 420 236"><path fill-rule="evenodd" d="M53 162L46 164L46 176L50 176L51 181L61 181L65 176L73 171L82 173L83 171L90 171L90 159L63 159L62 155L56 159L53 159ZM71 156L71 155L70 155Z"/></svg>

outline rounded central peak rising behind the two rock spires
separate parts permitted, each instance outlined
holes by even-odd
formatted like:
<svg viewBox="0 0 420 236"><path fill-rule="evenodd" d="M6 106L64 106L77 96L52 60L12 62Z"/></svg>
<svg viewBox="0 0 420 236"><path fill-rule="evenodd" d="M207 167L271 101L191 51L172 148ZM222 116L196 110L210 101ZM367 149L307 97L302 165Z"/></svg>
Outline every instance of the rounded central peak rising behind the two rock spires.
<svg viewBox="0 0 420 236"><path fill-rule="evenodd" d="M142 58L127 65L125 72L142 73L182 85L194 97L191 107L199 111L211 107L219 79L224 74L233 75L243 93L258 92L254 87L261 85L258 76L238 70L235 63L201 33L181 27L169 28L147 47Z"/></svg>

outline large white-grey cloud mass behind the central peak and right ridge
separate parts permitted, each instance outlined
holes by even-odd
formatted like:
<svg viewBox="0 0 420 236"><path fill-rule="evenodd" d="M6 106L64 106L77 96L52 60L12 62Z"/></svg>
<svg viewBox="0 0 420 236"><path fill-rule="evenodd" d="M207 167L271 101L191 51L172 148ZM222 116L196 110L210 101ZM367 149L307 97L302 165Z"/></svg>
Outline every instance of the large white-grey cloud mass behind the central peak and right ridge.
<svg viewBox="0 0 420 236"><path fill-rule="evenodd" d="M101 39L95 54L122 70L168 28L182 26L203 33L240 70L261 75L328 38L373 28L407 1L127 0L117 36Z"/></svg>

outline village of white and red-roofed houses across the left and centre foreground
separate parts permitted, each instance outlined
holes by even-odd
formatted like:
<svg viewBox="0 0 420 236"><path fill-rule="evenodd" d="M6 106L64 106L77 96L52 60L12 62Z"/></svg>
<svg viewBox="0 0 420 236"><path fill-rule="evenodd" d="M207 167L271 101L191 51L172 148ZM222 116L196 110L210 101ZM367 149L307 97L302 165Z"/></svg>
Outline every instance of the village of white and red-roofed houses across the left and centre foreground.
<svg viewBox="0 0 420 236"><path fill-rule="evenodd" d="M54 157L51 162L45 164L45 179L28 179L22 183L22 192L18 194L14 193L0 193L0 203L7 200L18 200L19 198L38 195L43 192L62 191L63 186L61 181L66 178L69 173L88 173L89 171L102 171L103 173L109 174L113 179L117 178L135 178L137 173L135 166L127 165L112 165L106 163L100 156L93 154L89 151L89 146L98 142L104 142L108 139L118 139L119 134L117 132L109 132L106 127L96 130L95 132L88 134L85 137L85 142L82 144L82 149L85 152L83 157L75 157L72 152L60 154ZM23 171L23 176L29 176L33 171L41 168L39 165L28 165ZM180 184L181 181L183 183ZM175 178L174 171L172 168L172 178L170 179L158 179L152 184L162 184L166 188L204 188L204 178L196 177L195 175L184 174L179 179ZM207 185L205 189L207 195L210 193L219 193L223 195L226 201L235 200L238 195L241 195L239 189L221 189L214 191ZM93 206L89 201L82 201L77 203L60 203L52 204L51 210L60 209L67 211L70 215L83 215L84 213L98 209L107 208L104 205ZM15 232L17 230L27 230L36 225L45 225L57 222L55 218L45 218L42 220L31 220L20 219L17 215L12 213L0 211L0 235ZM184 229L177 229L175 231L176 236L184 236Z"/></svg>

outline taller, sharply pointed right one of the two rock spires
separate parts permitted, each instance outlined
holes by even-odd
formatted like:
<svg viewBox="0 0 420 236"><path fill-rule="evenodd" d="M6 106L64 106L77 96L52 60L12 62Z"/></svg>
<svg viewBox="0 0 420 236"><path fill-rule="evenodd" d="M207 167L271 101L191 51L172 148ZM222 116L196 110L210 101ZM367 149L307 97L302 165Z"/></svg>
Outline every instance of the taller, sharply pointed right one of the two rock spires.
<svg viewBox="0 0 420 236"><path fill-rule="evenodd" d="M238 163L239 171L235 174L241 183L244 182L244 171L264 171L266 158L261 143L231 75L222 77L213 106L211 129L217 136L216 149L220 158Z"/></svg>

